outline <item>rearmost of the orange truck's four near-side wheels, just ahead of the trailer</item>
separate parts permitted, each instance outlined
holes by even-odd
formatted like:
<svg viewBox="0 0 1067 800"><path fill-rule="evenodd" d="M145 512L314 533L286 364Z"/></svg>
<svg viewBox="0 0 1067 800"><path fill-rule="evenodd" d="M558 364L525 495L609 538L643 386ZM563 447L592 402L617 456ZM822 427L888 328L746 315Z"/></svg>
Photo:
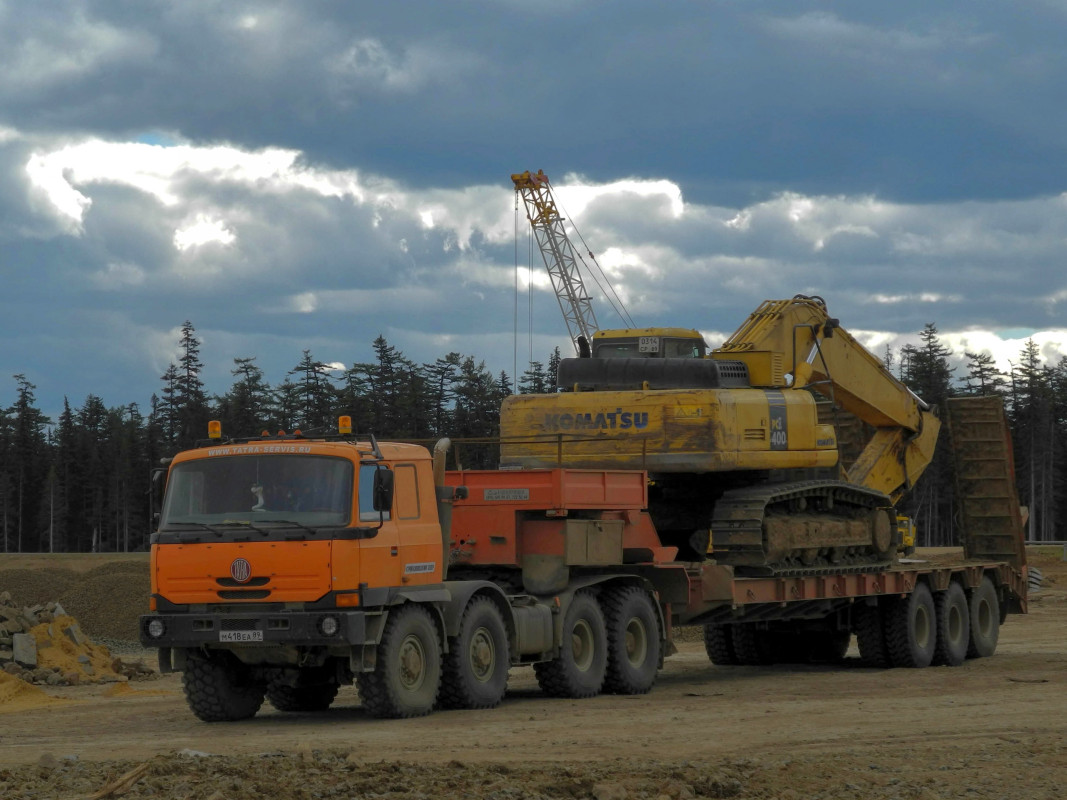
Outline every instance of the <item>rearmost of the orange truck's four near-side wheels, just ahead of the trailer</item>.
<svg viewBox="0 0 1067 800"><path fill-rule="evenodd" d="M604 596L607 675L614 694L644 694L659 671L659 621L651 595L636 586Z"/></svg>

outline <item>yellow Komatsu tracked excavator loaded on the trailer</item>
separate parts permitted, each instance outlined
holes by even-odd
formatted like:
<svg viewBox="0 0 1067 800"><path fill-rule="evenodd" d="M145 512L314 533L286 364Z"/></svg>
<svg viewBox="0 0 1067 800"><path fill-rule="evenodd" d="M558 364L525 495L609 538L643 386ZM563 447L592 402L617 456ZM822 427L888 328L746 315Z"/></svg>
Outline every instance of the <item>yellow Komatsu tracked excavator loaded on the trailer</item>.
<svg viewBox="0 0 1067 800"><path fill-rule="evenodd" d="M765 301L708 357L578 357L500 411L510 468L648 470L660 535L750 574L888 564L940 421L817 297ZM874 429L847 471L815 394Z"/></svg>

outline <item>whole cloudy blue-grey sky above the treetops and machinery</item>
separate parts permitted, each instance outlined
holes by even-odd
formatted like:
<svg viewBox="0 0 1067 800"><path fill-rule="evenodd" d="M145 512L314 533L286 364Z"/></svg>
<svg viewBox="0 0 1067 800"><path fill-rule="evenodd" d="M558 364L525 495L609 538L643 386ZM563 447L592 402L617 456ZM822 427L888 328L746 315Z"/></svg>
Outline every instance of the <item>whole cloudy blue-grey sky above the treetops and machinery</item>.
<svg viewBox="0 0 1067 800"><path fill-rule="evenodd" d="M566 353L538 169L640 325L800 292L879 355L1056 363L1065 41L1062 0L0 0L0 406L146 409L185 320L217 394L379 334Z"/></svg>

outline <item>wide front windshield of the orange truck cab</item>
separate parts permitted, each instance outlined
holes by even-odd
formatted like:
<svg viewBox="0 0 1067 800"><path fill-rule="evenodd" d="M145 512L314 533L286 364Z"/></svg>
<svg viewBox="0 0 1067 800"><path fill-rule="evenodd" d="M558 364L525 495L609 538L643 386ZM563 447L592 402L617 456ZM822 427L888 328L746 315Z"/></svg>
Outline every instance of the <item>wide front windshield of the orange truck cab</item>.
<svg viewBox="0 0 1067 800"><path fill-rule="evenodd" d="M348 525L352 463L322 455L226 455L171 470L160 528Z"/></svg>

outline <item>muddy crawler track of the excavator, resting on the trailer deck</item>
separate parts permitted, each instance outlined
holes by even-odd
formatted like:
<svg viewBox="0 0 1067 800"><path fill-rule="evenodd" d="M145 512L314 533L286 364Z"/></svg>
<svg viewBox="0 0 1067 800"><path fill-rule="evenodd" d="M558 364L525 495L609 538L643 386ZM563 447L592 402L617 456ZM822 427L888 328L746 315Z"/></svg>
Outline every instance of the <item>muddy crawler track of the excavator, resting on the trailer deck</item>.
<svg viewBox="0 0 1067 800"><path fill-rule="evenodd" d="M727 492L715 503L711 557L749 575L813 575L887 569L895 512L874 490L798 481Z"/></svg>

